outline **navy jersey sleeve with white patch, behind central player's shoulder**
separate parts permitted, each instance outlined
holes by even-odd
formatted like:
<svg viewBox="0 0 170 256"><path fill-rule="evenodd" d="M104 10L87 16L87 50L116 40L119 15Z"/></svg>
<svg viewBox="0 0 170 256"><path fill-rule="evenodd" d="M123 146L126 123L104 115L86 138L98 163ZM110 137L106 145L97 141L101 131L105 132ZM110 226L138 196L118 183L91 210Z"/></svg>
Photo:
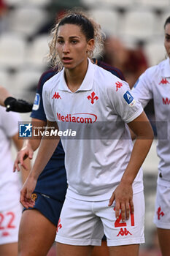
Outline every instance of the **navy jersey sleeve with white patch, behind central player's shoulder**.
<svg viewBox="0 0 170 256"><path fill-rule="evenodd" d="M31 113L32 118L36 118L42 121L47 121L47 118L45 116L45 110L43 107L43 99L42 99L42 89L47 80L53 77L55 75L56 70L49 69L46 72L44 72L39 79L39 83L36 89L36 96L34 99L34 105Z"/></svg>

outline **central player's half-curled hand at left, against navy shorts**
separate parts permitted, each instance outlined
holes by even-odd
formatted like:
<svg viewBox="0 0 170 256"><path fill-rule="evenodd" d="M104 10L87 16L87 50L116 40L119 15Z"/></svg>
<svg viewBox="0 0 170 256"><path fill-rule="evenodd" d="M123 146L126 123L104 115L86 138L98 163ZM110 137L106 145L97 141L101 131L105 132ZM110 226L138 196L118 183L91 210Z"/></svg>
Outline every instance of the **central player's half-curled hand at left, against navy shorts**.
<svg viewBox="0 0 170 256"><path fill-rule="evenodd" d="M31 196L36 187L36 182L36 179L31 176L26 179L23 189L20 191L20 203L22 203L23 207L34 207L35 202Z"/></svg>

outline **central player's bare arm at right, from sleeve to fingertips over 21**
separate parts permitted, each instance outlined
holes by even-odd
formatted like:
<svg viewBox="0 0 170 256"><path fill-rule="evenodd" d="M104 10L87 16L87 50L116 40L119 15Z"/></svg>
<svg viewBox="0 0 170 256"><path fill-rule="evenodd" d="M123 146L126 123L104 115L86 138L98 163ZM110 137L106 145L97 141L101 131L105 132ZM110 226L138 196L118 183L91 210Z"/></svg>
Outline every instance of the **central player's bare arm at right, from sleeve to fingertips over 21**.
<svg viewBox="0 0 170 256"><path fill-rule="evenodd" d="M144 124L144 127L142 123ZM117 189L115 189L109 200L109 206L111 206L115 200L116 218L119 217L121 209L123 222L125 222L125 219L129 219L130 212L132 214L134 212L132 184L145 157L147 157L147 153L150 150L153 140L152 127L144 112L134 119L134 121L128 123L128 127L130 127L136 134L136 141L131 153L131 159L128 162L128 166L126 167L120 184L117 186Z"/></svg>

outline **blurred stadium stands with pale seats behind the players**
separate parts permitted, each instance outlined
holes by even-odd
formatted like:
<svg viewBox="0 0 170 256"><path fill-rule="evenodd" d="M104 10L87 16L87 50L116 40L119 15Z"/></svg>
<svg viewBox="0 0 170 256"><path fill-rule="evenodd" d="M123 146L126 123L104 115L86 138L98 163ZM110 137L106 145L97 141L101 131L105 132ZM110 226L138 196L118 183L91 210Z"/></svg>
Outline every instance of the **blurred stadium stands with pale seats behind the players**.
<svg viewBox="0 0 170 256"><path fill-rule="evenodd" d="M170 0L4 0L0 1L0 83L15 97L34 101L39 77L47 64L49 31L55 20L72 7L82 7L107 37L119 39L125 48L140 46L148 67L166 56L163 24L170 15ZM29 120L28 115L23 119ZM144 162L146 200L145 249L154 249L152 217L158 173L156 138ZM153 255L157 255L156 254Z"/></svg>

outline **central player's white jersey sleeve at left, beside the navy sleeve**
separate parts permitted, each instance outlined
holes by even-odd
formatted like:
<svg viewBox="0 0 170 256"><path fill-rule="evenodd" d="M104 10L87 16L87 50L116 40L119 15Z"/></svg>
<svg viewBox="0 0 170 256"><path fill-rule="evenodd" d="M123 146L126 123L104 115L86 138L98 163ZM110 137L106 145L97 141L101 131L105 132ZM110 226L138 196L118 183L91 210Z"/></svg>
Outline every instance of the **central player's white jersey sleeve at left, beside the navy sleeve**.
<svg viewBox="0 0 170 256"><path fill-rule="evenodd" d="M51 102L50 102L50 91L48 88L48 82L45 83L42 89L43 107L45 109L45 115L48 121L55 121Z"/></svg>

